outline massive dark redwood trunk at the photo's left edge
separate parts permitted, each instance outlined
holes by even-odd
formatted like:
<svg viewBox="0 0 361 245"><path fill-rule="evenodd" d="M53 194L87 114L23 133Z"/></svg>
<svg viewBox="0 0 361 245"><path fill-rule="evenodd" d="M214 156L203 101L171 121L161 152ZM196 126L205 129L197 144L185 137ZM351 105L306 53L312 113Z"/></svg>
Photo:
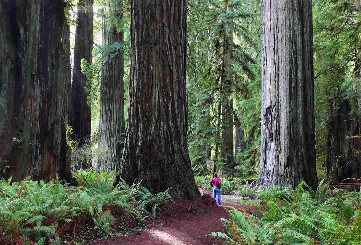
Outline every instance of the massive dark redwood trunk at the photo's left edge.
<svg viewBox="0 0 361 245"><path fill-rule="evenodd" d="M62 0L0 3L0 176L13 181L70 179L64 23Z"/></svg>

